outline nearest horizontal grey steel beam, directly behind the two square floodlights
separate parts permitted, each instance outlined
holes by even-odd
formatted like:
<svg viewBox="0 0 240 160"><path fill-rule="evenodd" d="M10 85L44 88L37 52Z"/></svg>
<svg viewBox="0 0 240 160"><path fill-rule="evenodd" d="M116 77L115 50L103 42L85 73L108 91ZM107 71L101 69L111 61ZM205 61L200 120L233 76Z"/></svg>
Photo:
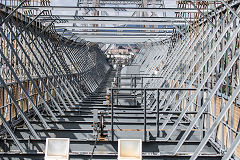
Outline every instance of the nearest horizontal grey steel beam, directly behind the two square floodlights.
<svg viewBox="0 0 240 160"><path fill-rule="evenodd" d="M19 141L24 145L28 146L29 148L36 149L38 148L41 152L28 152L23 154L17 154L16 152L5 152L0 154L0 157L4 158L10 158L13 157L15 159L24 159L24 158L30 158L30 159L44 159L44 148L46 140L36 140L36 139L19 139ZM31 143L29 143L29 141ZM5 139L1 140L1 149L5 150L15 150L15 145L11 139ZM87 155L90 156L90 151L92 150L94 146L94 140L88 139L88 140L70 140L70 150L69 153L70 158L76 158L80 160L89 159L89 157L86 157ZM143 147L143 157L146 159L189 159L188 156L191 155L192 152L182 152L183 154L178 155L171 155L167 152L169 147L176 145L177 141L172 140L171 142L157 142L157 141L150 141L145 142ZM199 144L198 141L186 141L185 146L186 148L195 148ZM6 147L6 146L8 147ZM98 141L95 145L96 153L94 153L94 159L116 159L117 158L117 145L118 142L112 142L112 141ZM210 144L208 144L210 145ZM5 146L5 147L4 147ZM164 148L164 151L161 152L161 155L159 155L159 148ZM100 157L99 157L100 156ZM202 156L200 156L198 159L219 159L217 158L220 155L218 153L214 152L205 152Z"/></svg>

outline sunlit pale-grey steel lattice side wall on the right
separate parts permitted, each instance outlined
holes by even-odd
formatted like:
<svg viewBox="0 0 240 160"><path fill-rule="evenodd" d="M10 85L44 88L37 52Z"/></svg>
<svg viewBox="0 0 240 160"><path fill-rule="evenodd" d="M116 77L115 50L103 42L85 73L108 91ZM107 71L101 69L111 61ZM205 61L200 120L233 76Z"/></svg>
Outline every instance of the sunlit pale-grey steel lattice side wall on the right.
<svg viewBox="0 0 240 160"><path fill-rule="evenodd" d="M205 132L191 159L197 158L208 141L224 154L223 159L229 159L233 153L239 155L240 26L237 13L238 7L217 15L216 27L204 23L194 31L181 35L174 45L159 42L141 45L141 52L134 60L134 64L141 65L143 73L154 74L159 70L157 76L162 78L150 80L150 85L146 81L145 85L149 88L197 88L196 91L161 91L159 108L157 104L151 104L152 111L181 111L171 131L161 141L171 139L182 119L190 121L172 150L173 154L178 153L195 128ZM156 97L156 92L149 97L151 95ZM192 111L196 114L187 114ZM159 128L166 129L173 114L158 116L165 119Z"/></svg>

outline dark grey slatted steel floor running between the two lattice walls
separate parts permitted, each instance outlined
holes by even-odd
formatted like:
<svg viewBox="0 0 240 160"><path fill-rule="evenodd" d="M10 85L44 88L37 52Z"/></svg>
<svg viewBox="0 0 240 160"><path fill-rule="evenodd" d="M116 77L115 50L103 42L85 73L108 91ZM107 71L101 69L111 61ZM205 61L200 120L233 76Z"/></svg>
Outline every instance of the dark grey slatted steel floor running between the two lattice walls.
<svg viewBox="0 0 240 160"><path fill-rule="evenodd" d="M64 116L57 116L58 121L54 121L50 116L43 112L51 129L44 129L42 123L37 117L30 121L36 132L41 136L41 140L33 139L30 131L25 126L19 126L15 129L15 134L21 144L29 149L26 154L14 152L17 146L14 141L5 137L0 140L1 159L43 159L45 138L70 138L70 158L71 159L90 159L95 137L93 131L94 110L98 113L104 113L104 132L106 137L96 142L93 159L117 159L117 139L143 139L143 108L141 106L118 105L115 107L114 114L114 141L111 141L111 116L110 106L104 105L106 100L106 88L111 86L115 72L110 73L109 79L97 94L93 94L85 99L81 104L70 107L70 111L65 111ZM57 113L57 112L56 112ZM101 116L98 117L98 122ZM176 132L168 141L160 141L156 137L155 125L156 116L148 114L147 116L147 137L148 142L143 142L144 159L189 159L195 148L199 145L203 132L192 130L181 147L178 155L171 155L171 149L177 144L183 135L189 122L183 120ZM160 130L160 138L164 138L167 132L171 130L177 115L172 116L164 130ZM160 120L160 124L163 121ZM208 143L202 150L198 159L221 159L220 154Z"/></svg>

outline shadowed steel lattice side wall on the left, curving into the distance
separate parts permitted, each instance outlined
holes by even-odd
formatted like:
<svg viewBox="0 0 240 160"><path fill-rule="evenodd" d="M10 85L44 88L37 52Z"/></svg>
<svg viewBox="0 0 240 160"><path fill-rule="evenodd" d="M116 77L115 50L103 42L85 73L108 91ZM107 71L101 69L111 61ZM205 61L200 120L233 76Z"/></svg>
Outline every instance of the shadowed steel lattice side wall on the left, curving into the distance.
<svg viewBox="0 0 240 160"><path fill-rule="evenodd" d="M1 21L6 20L5 13L1 10ZM36 114L44 128L50 128L40 111L55 120L54 112L64 115L100 86L110 67L97 44L60 37L21 14L6 20L0 32L1 124L26 152L8 121L16 125L24 120L33 137L40 139L29 117Z"/></svg>

